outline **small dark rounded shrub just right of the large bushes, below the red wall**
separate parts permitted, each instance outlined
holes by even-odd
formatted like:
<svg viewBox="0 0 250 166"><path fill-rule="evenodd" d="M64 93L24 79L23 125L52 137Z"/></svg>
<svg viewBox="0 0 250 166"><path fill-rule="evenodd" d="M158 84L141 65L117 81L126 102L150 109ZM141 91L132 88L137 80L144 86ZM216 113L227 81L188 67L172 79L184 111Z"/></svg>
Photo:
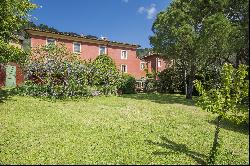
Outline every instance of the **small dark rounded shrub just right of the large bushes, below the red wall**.
<svg viewBox="0 0 250 166"><path fill-rule="evenodd" d="M132 94L132 93L135 93L135 85L136 85L136 80L133 76L129 74L123 74L122 84L119 90L123 94Z"/></svg>

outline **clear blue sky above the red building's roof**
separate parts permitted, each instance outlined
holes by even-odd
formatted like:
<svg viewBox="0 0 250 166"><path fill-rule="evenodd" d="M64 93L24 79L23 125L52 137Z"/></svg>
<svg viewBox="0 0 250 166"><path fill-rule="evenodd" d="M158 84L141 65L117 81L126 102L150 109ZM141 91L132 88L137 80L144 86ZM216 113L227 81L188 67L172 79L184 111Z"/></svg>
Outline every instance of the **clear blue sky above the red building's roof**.
<svg viewBox="0 0 250 166"><path fill-rule="evenodd" d="M108 37L150 47L155 15L171 0L32 0L32 21L59 31ZM36 19L37 18L37 19Z"/></svg>

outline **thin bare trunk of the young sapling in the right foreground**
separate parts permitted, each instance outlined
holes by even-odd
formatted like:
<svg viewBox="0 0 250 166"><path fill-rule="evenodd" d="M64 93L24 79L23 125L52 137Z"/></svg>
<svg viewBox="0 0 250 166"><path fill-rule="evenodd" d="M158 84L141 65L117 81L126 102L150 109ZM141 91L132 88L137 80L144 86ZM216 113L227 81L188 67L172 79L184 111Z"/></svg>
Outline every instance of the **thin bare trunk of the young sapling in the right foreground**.
<svg viewBox="0 0 250 166"><path fill-rule="evenodd" d="M213 147L212 149L210 150L210 154L209 154L209 157L208 157L208 161L207 161L207 164L214 164L215 163L215 159L218 155L218 149L220 147L220 142L219 142L219 132L220 132L220 125L221 125L221 120L222 120L222 116L219 115L218 116L218 119L217 119L217 124L216 124L216 129L215 129L215 132L214 132L214 142L213 142Z"/></svg>

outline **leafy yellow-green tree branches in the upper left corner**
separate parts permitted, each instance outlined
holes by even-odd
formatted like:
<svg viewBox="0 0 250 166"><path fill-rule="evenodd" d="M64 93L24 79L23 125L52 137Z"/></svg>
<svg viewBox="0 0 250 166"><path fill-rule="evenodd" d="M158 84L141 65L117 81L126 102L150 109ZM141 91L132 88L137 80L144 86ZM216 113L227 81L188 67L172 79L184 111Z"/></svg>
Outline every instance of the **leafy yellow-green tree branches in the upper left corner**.
<svg viewBox="0 0 250 166"><path fill-rule="evenodd" d="M36 5L29 0L0 1L0 64L23 60L23 51L10 46L10 40L16 38L16 33L29 20L29 12Z"/></svg>

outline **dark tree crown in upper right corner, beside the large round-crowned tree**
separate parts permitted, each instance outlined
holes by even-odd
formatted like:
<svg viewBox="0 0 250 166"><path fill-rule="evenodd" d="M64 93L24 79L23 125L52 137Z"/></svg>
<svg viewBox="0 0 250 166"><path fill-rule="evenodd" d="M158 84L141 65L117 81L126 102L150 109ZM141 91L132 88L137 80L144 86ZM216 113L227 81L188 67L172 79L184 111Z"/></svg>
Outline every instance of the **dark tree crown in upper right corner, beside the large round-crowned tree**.
<svg viewBox="0 0 250 166"><path fill-rule="evenodd" d="M222 52L224 56L219 59L219 65L225 62L232 63L235 67L241 63L247 65L249 61L249 1L225 2L222 12L204 20L206 32L203 33L202 42L206 47L201 50L204 51L204 56L218 56L218 53ZM215 26L216 22L219 22L217 20L220 20L227 33L222 33L221 29Z"/></svg>

